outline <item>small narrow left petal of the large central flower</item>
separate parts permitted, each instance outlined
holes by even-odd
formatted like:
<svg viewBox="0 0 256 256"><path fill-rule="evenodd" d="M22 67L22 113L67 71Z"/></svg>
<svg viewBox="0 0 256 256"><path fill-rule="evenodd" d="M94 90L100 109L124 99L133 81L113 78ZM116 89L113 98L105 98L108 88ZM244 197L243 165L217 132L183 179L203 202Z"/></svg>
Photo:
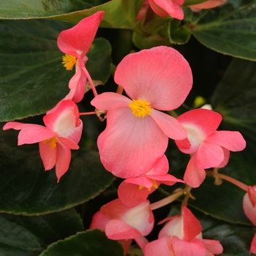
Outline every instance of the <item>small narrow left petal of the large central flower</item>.
<svg viewBox="0 0 256 256"><path fill-rule="evenodd" d="M91 100L91 105L99 110L111 110L117 108L128 108L131 99L114 92L105 92L97 95ZM129 109L131 112L132 110Z"/></svg>

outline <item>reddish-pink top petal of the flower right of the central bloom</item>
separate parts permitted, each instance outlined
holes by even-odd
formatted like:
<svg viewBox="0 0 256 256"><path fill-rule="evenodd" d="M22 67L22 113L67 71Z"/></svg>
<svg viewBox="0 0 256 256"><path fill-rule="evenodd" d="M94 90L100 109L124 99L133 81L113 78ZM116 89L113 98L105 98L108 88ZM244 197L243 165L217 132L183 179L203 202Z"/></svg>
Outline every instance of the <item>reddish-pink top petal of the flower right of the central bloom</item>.
<svg viewBox="0 0 256 256"><path fill-rule="evenodd" d="M183 113L177 119L185 128L197 129L202 134L202 139L206 139L219 127L222 116L212 110L197 108Z"/></svg>

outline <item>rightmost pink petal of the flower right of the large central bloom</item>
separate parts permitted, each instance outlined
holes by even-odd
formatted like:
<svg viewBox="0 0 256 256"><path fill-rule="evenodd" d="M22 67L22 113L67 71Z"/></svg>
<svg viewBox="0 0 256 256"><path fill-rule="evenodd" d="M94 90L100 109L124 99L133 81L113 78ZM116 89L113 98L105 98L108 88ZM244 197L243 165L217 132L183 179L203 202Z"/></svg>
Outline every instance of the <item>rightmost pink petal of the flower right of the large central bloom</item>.
<svg viewBox="0 0 256 256"><path fill-rule="evenodd" d="M206 138L205 142L217 144L230 151L241 151L246 146L246 141L240 132L217 131Z"/></svg>

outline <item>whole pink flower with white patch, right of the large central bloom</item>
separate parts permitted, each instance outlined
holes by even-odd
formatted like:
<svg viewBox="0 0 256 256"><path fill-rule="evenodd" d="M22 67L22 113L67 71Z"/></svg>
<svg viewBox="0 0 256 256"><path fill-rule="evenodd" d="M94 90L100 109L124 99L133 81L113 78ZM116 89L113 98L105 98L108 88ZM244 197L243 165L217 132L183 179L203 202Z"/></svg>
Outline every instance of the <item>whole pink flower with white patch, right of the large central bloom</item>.
<svg viewBox="0 0 256 256"><path fill-rule="evenodd" d="M222 121L217 112L200 108L187 111L177 119L188 134L187 139L175 142L180 151L192 154L184 173L184 181L191 187L199 187L203 182L204 169L224 167L230 151L241 151L246 146L240 132L217 131Z"/></svg>

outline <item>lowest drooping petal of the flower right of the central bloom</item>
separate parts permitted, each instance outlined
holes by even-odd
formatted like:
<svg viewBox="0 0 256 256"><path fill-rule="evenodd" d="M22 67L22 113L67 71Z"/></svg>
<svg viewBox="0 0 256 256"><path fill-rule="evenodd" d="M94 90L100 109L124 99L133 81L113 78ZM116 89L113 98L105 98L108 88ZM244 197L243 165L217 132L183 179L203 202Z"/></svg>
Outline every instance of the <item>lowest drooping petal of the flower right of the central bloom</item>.
<svg viewBox="0 0 256 256"><path fill-rule="evenodd" d="M196 188L203 183L206 178L206 171L195 167L195 155L193 155L187 164L187 168L184 173L184 181L190 187Z"/></svg>

